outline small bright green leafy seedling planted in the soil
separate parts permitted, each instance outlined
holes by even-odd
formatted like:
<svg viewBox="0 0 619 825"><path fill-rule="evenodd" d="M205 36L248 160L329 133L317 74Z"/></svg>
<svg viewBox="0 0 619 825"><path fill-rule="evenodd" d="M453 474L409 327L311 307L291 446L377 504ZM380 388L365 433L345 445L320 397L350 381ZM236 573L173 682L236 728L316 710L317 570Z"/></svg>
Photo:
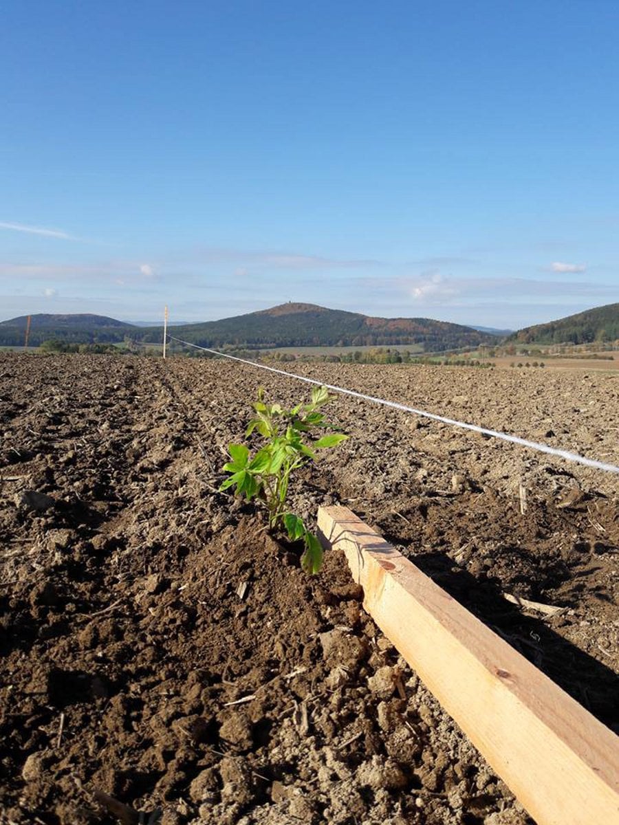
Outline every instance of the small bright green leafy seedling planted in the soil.
<svg viewBox="0 0 619 825"><path fill-rule="evenodd" d="M230 444L232 460L224 464L224 471L230 475L220 485L220 490L235 487L236 495L262 502L267 508L270 530L282 528L291 541L303 540L301 566L307 573L318 573L323 549L303 520L287 511L286 497L291 474L303 464L315 461L315 450L335 447L348 437L341 432L329 432L317 439L311 436L313 431L331 427L320 412L331 398L326 387L314 387L309 403L284 409L280 404L266 403L264 390L258 389L258 401L253 403L256 416L249 422L245 436L248 438L256 431L266 443L253 457L246 444Z"/></svg>

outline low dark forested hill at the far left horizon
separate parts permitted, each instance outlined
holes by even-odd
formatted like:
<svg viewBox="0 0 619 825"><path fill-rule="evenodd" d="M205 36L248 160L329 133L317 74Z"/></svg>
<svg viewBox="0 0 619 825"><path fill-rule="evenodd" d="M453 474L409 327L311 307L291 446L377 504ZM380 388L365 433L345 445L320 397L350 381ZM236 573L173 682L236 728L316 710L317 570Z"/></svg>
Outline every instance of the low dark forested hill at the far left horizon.
<svg viewBox="0 0 619 825"><path fill-rule="evenodd" d="M27 323L26 315L0 322L0 346L21 347L26 337ZM130 337L134 331L137 328L133 324L106 318L105 315L38 314L31 316L28 340L31 347L38 347L50 338L71 344L116 343L123 341L125 335Z"/></svg>

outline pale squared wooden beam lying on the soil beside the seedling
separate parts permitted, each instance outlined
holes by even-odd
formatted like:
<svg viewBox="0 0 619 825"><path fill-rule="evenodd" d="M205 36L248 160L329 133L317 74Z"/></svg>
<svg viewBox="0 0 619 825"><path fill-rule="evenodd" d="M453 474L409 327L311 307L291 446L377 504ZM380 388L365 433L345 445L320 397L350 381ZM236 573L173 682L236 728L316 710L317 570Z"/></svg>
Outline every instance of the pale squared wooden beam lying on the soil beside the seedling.
<svg viewBox="0 0 619 825"><path fill-rule="evenodd" d="M538 825L619 823L619 738L347 507L320 507L385 636Z"/></svg>

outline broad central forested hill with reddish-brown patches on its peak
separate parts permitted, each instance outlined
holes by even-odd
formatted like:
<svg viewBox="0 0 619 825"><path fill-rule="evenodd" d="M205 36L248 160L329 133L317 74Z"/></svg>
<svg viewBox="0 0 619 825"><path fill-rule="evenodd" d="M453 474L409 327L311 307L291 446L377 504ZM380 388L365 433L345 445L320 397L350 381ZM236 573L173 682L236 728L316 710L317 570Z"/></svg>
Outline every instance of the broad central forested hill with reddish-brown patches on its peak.
<svg viewBox="0 0 619 825"><path fill-rule="evenodd" d="M430 318L371 318L315 304L281 304L221 321L175 327L172 334L201 347L390 347L422 344L426 351L493 344L497 337ZM139 340L158 342L161 328L142 329Z"/></svg>

